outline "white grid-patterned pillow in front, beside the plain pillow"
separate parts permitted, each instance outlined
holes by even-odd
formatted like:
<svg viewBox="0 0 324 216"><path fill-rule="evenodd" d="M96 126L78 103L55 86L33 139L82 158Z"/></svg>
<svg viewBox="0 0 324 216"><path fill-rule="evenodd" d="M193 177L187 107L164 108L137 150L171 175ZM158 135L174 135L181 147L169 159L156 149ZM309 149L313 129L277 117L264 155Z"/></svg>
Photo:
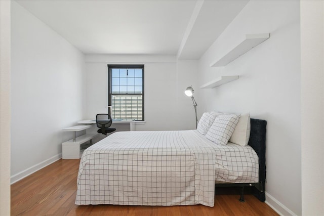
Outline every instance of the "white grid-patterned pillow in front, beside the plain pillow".
<svg viewBox="0 0 324 216"><path fill-rule="evenodd" d="M232 136L239 116L235 114L221 114L216 116L206 138L219 145L226 145Z"/></svg>

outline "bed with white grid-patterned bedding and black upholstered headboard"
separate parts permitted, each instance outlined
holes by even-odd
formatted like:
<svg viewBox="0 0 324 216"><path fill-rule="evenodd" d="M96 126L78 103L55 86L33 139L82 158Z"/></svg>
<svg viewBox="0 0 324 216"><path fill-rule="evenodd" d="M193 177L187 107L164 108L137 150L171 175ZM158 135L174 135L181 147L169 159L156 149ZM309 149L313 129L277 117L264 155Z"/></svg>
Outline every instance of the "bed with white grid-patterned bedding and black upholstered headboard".
<svg viewBox="0 0 324 216"><path fill-rule="evenodd" d="M114 133L84 151L75 204L214 206L216 182L255 187L262 201L265 125L251 119L244 147L197 130Z"/></svg>

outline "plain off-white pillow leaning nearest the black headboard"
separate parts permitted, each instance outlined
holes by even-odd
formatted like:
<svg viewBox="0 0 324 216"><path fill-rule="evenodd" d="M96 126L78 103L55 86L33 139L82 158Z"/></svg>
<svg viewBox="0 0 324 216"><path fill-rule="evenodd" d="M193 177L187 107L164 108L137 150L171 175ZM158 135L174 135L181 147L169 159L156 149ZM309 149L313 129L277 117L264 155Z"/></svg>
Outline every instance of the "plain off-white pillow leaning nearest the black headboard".
<svg viewBox="0 0 324 216"><path fill-rule="evenodd" d="M239 116L234 132L229 142L240 146L247 146L250 139L251 120L250 113L244 113Z"/></svg>

